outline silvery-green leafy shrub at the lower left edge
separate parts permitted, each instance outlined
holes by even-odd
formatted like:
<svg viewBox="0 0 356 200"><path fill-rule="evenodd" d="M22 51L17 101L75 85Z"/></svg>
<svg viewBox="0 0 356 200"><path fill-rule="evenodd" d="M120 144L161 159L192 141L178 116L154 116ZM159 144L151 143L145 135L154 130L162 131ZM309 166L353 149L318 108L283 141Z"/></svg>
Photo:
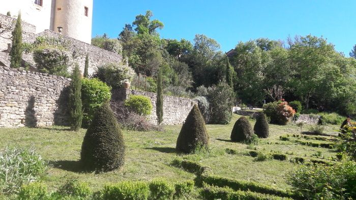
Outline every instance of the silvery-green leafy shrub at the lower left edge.
<svg viewBox="0 0 356 200"><path fill-rule="evenodd" d="M0 193L16 193L21 185L41 179L47 164L33 149L6 148L0 152Z"/></svg>

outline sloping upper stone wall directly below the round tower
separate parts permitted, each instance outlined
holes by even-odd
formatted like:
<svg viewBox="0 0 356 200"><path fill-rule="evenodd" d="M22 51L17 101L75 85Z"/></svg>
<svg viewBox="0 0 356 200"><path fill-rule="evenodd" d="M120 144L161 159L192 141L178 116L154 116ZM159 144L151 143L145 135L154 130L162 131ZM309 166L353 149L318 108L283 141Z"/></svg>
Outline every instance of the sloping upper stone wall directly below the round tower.
<svg viewBox="0 0 356 200"><path fill-rule="evenodd" d="M62 37L65 41L67 41L70 45L69 51L70 54L74 57L73 62L79 64L79 68L81 72L84 72L84 65L85 65L85 56L86 53L89 54L89 69L88 73L93 74L98 66L101 66L106 63L110 62L117 62L121 64L128 64L123 63L123 56L117 53L107 51L105 49L101 49L99 47L87 44L85 42L67 37L65 35L58 34L57 32L46 30L41 32L40 34L36 34L30 38L24 40L24 42L32 43L36 40L37 37L44 36L44 37L52 37L52 38L60 38ZM32 55L25 56L23 59L28 63L34 63ZM69 69L71 71L71 69Z"/></svg>

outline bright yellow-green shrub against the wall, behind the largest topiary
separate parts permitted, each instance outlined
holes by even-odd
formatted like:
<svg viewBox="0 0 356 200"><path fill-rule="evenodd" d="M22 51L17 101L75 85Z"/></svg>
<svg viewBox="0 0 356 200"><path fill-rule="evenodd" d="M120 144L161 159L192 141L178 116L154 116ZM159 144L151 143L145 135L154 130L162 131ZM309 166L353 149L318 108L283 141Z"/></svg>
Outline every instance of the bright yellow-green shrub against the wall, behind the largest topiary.
<svg viewBox="0 0 356 200"><path fill-rule="evenodd" d="M93 120L96 109L111 99L111 88L99 79L81 79L81 100L83 104L83 126Z"/></svg>

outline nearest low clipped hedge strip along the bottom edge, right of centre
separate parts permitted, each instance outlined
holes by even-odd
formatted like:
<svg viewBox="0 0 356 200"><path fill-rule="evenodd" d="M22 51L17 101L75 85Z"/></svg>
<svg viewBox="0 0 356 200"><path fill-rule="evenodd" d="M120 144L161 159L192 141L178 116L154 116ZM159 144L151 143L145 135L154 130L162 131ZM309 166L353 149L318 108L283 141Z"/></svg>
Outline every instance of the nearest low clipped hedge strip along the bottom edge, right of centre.
<svg viewBox="0 0 356 200"><path fill-rule="evenodd" d="M207 200L213 199L246 199L246 200L280 200L280 199L292 199L287 197L279 197L270 194L261 194L252 191L234 191L228 187L217 187L204 185L200 190L200 195Z"/></svg>

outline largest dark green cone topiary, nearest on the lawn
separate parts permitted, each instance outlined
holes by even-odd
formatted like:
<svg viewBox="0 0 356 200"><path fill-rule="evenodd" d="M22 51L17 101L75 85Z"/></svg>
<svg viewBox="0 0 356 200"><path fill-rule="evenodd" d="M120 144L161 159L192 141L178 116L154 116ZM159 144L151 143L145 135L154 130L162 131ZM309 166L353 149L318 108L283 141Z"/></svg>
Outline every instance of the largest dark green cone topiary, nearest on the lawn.
<svg viewBox="0 0 356 200"><path fill-rule="evenodd" d="M124 164L123 134L109 104L95 113L81 146L80 161L88 171L110 171Z"/></svg>

